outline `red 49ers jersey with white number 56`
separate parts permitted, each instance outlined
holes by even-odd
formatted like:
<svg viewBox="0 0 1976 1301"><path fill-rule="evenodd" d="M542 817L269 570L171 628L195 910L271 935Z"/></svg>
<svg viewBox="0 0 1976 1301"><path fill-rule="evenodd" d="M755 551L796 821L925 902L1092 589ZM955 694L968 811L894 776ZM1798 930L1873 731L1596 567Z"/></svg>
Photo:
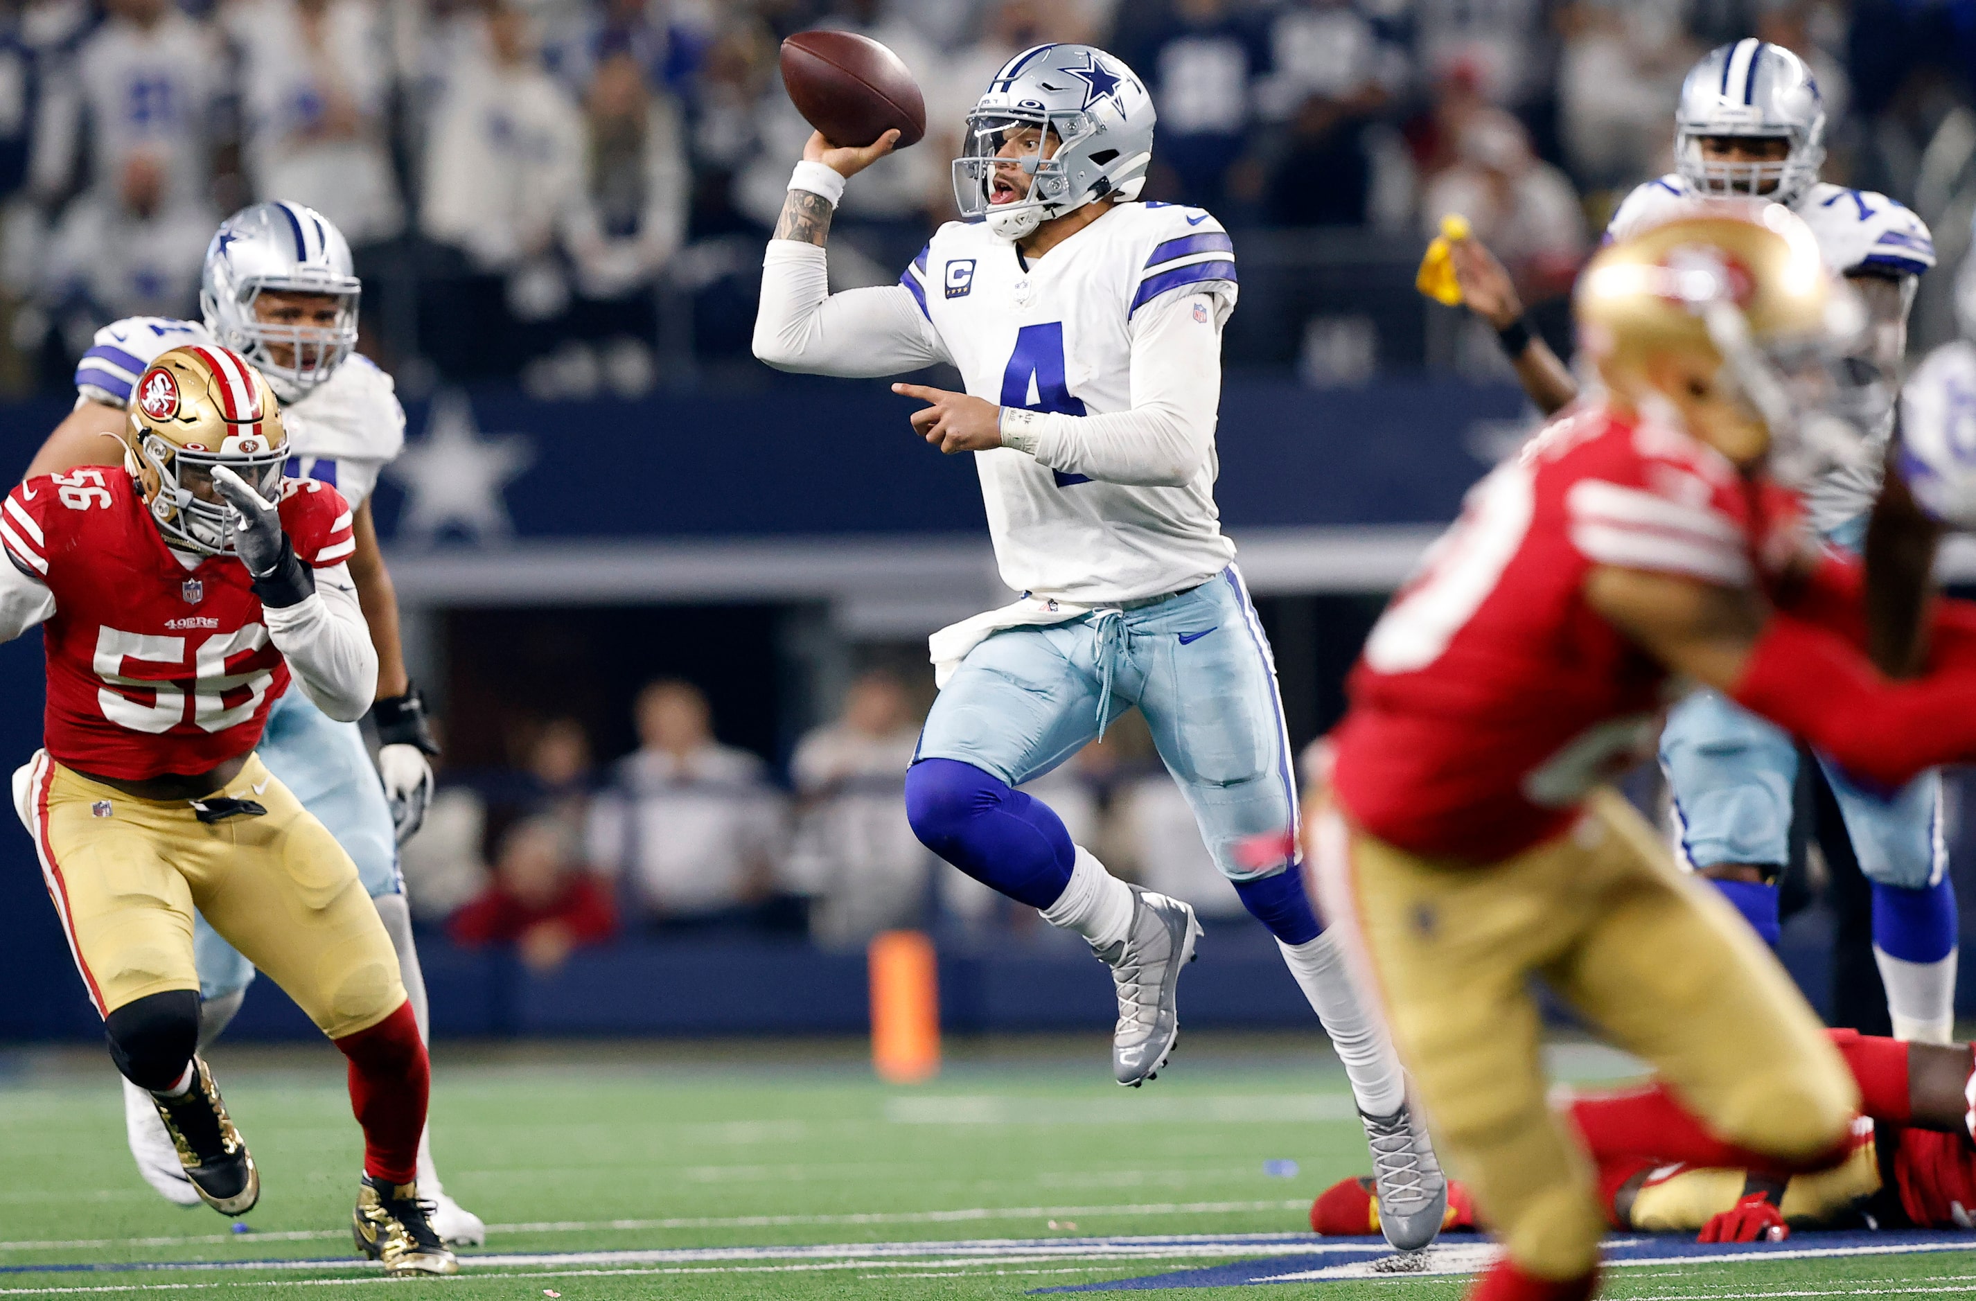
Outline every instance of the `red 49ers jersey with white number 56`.
<svg viewBox="0 0 1976 1301"><path fill-rule="evenodd" d="M344 562L350 522L336 488L287 480L281 524L304 564ZM0 544L55 597L43 743L59 763L140 781L204 773L255 747L288 664L239 560L182 565L121 469L16 486Z"/></svg>

